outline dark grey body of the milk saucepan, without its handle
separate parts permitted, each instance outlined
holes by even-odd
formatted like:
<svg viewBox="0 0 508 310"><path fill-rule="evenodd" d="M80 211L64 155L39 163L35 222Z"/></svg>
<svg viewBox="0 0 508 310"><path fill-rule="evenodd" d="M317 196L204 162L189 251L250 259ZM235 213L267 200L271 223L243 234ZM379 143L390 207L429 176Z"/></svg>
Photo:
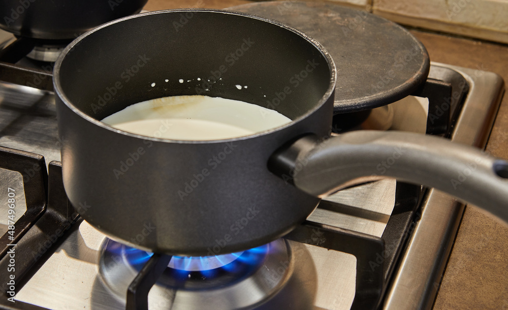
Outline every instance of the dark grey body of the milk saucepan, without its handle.
<svg viewBox="0 0 508 310"><path fill-rule="evenodd" d="M54 83L65 189L108 235L155 252L227 253L282 236L319 202L267 169L282 144L330 130L333 61L305 35L241 13L176 10L115 21L63 54ZM295 121L201 142L99 121L137 102L196 94L268 106Z"/></svg>

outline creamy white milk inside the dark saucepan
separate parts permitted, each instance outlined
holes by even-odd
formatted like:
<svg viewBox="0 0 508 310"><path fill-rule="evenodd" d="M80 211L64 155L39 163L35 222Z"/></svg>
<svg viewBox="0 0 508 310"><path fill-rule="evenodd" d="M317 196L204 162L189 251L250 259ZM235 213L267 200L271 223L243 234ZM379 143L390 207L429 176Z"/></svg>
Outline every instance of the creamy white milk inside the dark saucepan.
<svg viewBox="0 0 508 310"><path fill-rule="evenodd" d="M243 101L174 96L133 104L102 120L130 133L173 140L220 140L279 127L291 119Z"/></svg>

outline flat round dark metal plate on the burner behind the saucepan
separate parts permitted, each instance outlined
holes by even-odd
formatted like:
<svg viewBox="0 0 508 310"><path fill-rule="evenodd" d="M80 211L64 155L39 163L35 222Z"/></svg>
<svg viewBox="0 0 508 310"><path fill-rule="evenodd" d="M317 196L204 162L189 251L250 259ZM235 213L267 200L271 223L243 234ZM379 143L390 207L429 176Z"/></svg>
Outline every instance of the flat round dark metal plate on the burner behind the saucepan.
<svg viewBox="0 0 508 310"><path fill-rule="evenodd" d="M400 100L427 79L423 44L383 17L333 4L273 1L230 8L283 22L328 50L337 68L335 113L368 110Z"/></svg>

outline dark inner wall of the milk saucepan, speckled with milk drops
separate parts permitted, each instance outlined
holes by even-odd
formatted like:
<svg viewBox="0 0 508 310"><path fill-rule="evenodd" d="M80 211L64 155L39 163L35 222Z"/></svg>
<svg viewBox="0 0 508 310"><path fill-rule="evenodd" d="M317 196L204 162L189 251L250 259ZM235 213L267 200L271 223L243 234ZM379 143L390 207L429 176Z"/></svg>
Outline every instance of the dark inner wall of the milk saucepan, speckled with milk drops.
<svg viewBox="0 0 508 310"><path fill-rule="evenodd" d="M177 95L241 100L296 119L322 104L332 79L325 55L302 35L227 12L143 14L71 46L56 66L60 91L97 120Z"/></svg>

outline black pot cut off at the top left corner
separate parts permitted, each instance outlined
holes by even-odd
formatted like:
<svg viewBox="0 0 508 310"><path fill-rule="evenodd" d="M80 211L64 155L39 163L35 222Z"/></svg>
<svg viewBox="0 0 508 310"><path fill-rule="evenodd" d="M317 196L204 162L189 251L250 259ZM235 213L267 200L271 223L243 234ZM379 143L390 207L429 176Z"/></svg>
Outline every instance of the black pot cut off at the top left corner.
<svg viewBox="0 0 508 310"><path fill-rule="evenodd" d="M141 11L147 0L3 0L0 28L15 35L63 40Z"/></svg>

